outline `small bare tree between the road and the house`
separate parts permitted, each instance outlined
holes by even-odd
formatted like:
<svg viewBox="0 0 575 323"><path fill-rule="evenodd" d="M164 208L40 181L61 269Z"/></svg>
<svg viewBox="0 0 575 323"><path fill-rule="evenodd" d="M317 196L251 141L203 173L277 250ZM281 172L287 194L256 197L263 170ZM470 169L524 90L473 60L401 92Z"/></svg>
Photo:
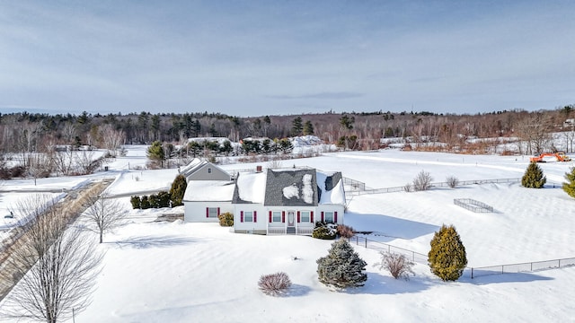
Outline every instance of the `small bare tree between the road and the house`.
<svg viewBox="0 0 575 323"><path fill-rule="evenodd" d="M126 213L122 211L118 200L110 196L91 196L86 204L91 205L85 211L87 229L98 233L102 243L103 234L121 225Z"/></svg>

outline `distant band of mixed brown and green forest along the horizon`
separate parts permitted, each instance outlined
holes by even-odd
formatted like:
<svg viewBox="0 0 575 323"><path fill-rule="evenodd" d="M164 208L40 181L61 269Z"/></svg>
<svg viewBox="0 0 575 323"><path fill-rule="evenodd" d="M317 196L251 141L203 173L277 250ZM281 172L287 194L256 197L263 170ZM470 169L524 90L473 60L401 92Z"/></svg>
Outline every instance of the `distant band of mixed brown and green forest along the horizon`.
<svg viewBox="0 0 575 323"><path fill-rule="evenodd" d="M227 137L232 142L252 137L281 139L316 135L325 143L346 149L370 150L381 147L381 138L406 138L419 144L444 143L447 149L461 148L469 138L517 137L528 144L529 152L545 147L552 132L573 132L574 105L559 109L502 110L474 115L432 112L344 112L291 116L242 118L220 113L107 114L0 114L0 153L41 152L47 146L109 144L186 144L193 137ZM114 143L107 143L113 137ZM571 139L572 142L572 139ZM423 147L424 145L421 145Z"/></svg>

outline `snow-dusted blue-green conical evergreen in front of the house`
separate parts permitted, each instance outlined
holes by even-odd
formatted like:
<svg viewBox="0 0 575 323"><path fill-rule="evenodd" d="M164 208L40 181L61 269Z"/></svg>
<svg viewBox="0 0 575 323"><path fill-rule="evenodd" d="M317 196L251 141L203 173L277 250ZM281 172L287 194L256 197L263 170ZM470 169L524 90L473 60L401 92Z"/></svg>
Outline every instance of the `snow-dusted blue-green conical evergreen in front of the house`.
<svg viewBox="0 0 575 323"><path fill-rule="evenodd" d="M332 243L326 257L317 259L317 275L323 284L335 288L363 286L367 281L367 263L346 240Z"/></svg>

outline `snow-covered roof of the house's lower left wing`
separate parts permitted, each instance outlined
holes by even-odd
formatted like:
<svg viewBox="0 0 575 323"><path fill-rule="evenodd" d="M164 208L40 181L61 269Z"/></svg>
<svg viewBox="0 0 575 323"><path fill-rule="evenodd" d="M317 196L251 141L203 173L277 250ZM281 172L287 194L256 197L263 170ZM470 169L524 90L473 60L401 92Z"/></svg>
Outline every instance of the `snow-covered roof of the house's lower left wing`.
<svg viewBox="0 0 575 323"><path fill-rule="evenodd" d="M184 201L232 201L234 196L233 180L190 180Z"/></svg>

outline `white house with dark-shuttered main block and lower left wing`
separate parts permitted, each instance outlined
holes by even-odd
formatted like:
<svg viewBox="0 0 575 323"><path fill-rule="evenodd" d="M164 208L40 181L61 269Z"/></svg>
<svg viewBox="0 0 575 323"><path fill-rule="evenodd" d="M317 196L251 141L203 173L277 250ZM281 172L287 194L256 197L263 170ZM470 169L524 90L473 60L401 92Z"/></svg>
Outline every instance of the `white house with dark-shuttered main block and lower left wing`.
<svg viewBox="0 0 575 323"><path fill-rule="evenodd" d="M242 172L237 179L206 179L204 170L220 170L194 162L183 197L184 221L217 222L234 214L234 231L257 234L311 234L317 221L343 223L345 191L341 172L314 169ZM194 171L190 171L194 170ZM258 168L261 170L261 168ZM221 170L225 172L225 170ZM183 171L182 171L183 173ZM219 175L214 175L214 177Z"/></svg>

